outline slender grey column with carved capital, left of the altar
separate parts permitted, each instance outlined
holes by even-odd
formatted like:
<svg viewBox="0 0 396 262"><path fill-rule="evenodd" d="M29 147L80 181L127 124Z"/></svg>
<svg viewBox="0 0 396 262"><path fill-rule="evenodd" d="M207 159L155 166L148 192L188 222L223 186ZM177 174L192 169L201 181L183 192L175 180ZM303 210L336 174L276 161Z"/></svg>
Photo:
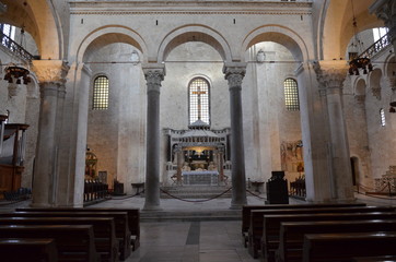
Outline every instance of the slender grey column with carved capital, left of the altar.
<svg viewBox="0 0 396 262"><path fill-rule="evenodd" d="M148 87L145 202L143 210L160 207L160 87L165 76L164 64L143 66Z"/></svg>

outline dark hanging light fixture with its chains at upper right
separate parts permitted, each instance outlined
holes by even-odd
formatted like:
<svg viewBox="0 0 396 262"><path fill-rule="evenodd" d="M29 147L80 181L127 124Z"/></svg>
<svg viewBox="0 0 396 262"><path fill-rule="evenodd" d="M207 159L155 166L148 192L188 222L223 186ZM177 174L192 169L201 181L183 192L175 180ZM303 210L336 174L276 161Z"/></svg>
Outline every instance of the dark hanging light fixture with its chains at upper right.
<svg viewBox="0 0 396 262"><path fill-rule="evenodd" d="M363 43L359 38L358 23L357 23L356 16L354 16L353 1L352 0L351 0L351 4L352 4L352 14L353 14L352 25L353 25L353 33L354 33L351 46L357 48L358 56L353 57L353 59L349 61L349 74L350 75L353 75L353 74L359 75L359 70L360 69L363 70L363 74L368 74L368 72L373 71L373 66L371 64L370 58L368 58L365 56L365 53L362 53L362 51L363 51L362 50L363 49ZM364 56L361 57L362 55L364 55Z"/></svg>

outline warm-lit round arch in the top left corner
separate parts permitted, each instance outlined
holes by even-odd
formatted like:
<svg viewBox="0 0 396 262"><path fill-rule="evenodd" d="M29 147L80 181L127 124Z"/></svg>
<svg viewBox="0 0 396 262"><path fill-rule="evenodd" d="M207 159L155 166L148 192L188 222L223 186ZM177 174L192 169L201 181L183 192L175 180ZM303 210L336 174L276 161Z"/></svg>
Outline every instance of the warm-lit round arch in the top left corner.
<svg viewBox="0 0 396 262"><path fill-rule="evenodd" d="M54 5L47 0L3 0L8 10L0 21L18 27L25 27L36 43L42 59L62 59L63 37Z"/></svg>

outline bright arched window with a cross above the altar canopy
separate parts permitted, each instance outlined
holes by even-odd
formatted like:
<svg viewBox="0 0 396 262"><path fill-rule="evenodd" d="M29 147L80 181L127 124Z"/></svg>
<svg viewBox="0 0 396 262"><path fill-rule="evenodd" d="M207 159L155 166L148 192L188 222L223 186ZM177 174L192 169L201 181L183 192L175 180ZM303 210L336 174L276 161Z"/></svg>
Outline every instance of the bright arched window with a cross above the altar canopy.
<svg viewBox="0 0 396 262"><path fill-rule="evenodd" d="M209 83L202 78L193 79L188 85L188 119L194 123L198 119L210 123Z"/></svg>

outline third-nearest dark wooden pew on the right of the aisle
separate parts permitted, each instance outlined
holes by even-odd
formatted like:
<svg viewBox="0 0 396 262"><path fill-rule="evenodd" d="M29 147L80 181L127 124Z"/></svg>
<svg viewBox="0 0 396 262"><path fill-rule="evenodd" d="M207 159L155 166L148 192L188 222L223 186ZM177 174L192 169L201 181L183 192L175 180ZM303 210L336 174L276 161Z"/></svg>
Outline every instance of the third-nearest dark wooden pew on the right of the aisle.
<svg viewBox="0 0 396 262"><path fill-rule="evenodd" d="M358 219L396 219L396 212L267 215L264 217L264 231L261 238L263 257L265 257L267 261L275 260L275 251L279 248L281 223Z"/></svg>

